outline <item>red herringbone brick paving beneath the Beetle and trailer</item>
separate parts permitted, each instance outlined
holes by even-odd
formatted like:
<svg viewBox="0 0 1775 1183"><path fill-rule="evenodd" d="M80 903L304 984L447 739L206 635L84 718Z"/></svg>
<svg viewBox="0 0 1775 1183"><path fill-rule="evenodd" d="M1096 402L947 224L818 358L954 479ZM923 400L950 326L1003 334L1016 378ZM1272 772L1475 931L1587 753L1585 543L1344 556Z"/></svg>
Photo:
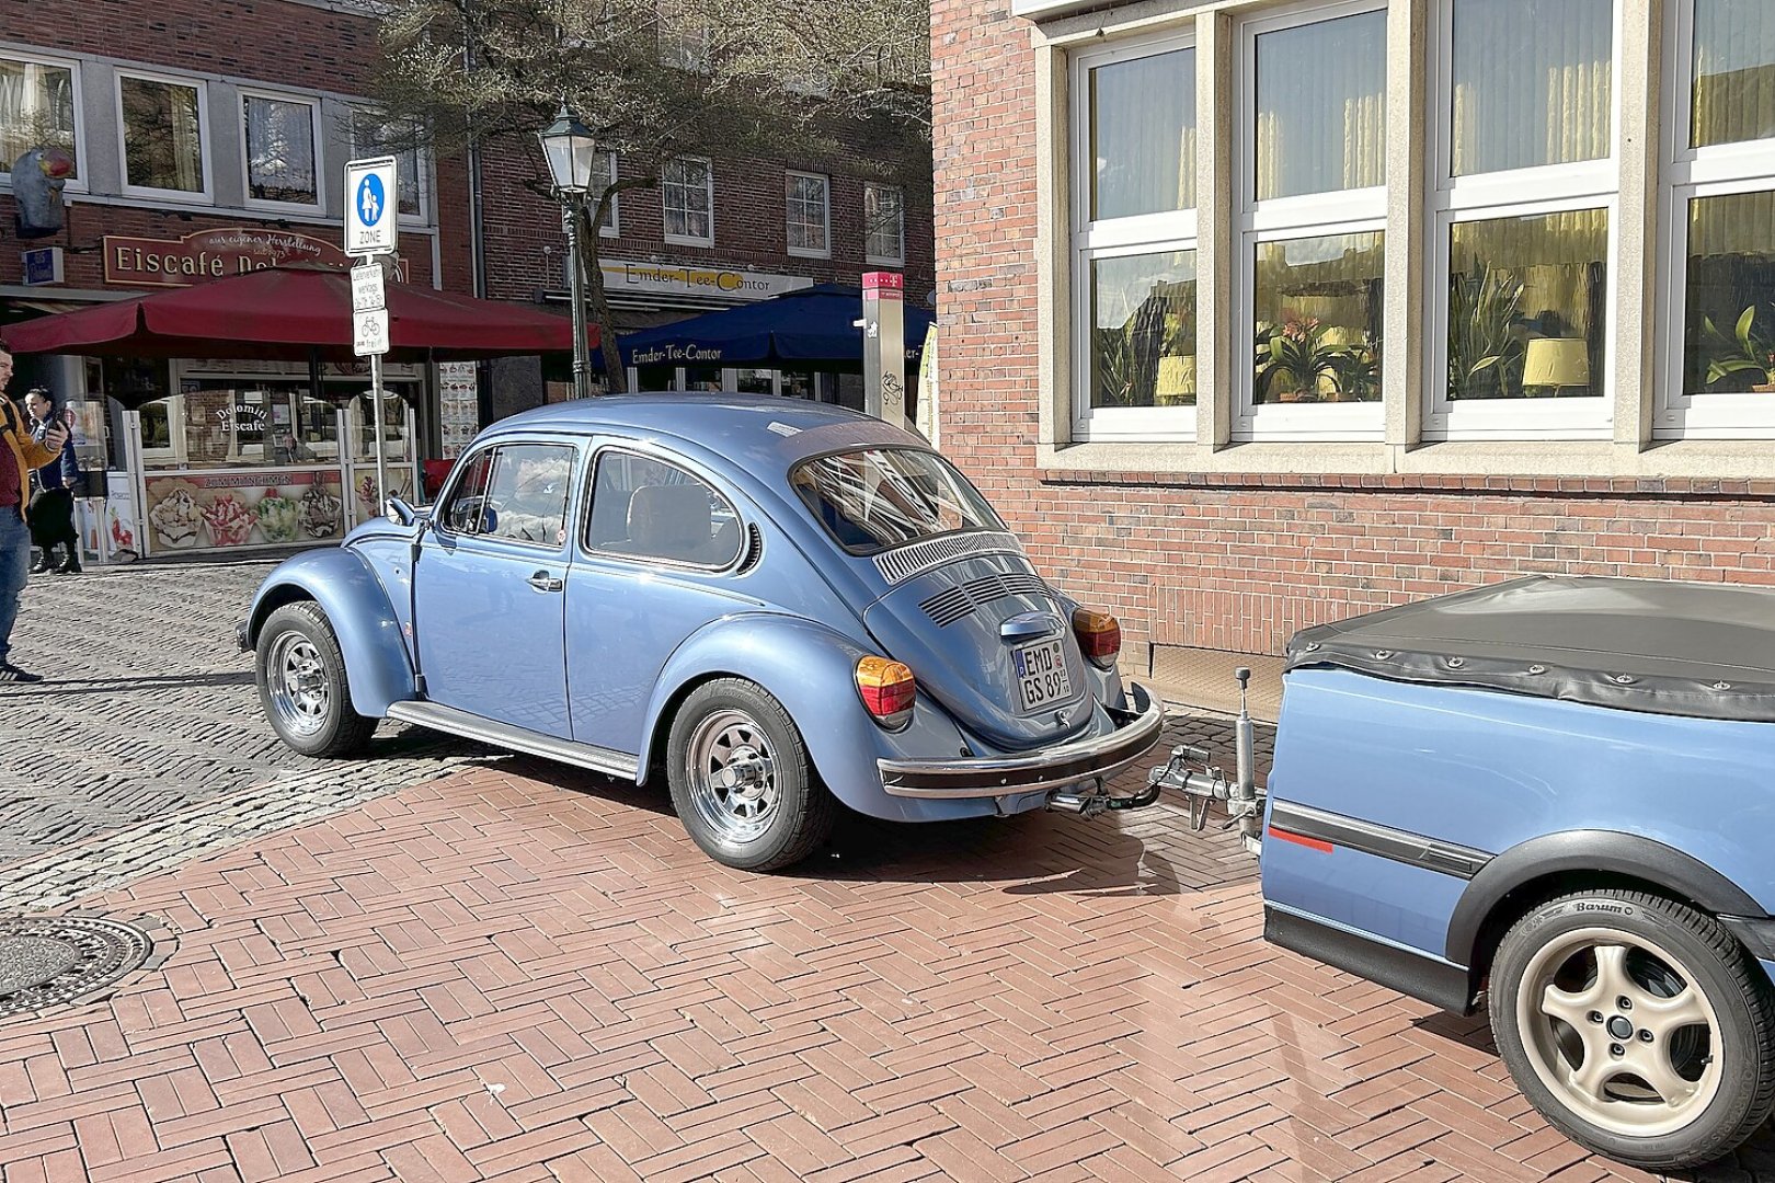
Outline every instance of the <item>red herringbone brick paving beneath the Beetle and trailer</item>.
<svg viewBox="0 0 1775 1183"><path fill-rule="evenodd" d="M706 860L659 793L474 770L87 901L179 931L0 1023L23 1179L1644 1179L1484 1023L1266 945L1170 805ZM1775 1178L1768 1133L1704 1179Z"/></svg>

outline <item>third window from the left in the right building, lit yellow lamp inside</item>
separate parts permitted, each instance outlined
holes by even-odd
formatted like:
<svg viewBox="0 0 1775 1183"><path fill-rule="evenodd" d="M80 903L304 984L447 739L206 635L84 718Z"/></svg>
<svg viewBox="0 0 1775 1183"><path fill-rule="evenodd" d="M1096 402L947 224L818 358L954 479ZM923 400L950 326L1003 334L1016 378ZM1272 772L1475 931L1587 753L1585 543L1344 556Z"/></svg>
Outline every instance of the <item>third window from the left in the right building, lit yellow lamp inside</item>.
<svg viewBox="0 0 1775 1183"><path fill-rule="evenodd" d="M1424 435L1606 435L1615 0L1445 14Z"/></svg>

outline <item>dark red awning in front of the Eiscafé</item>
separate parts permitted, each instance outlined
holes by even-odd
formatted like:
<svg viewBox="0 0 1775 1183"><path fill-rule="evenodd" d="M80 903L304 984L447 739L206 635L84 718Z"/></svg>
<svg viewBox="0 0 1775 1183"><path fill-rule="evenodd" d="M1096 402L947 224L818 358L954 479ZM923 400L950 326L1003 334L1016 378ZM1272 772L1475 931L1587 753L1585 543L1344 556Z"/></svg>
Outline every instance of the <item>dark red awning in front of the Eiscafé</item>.
<svg viewBox="0 0 1775 1183"><path fill-rule="evenodd" d="M573 348L564 316L517 303L389 282L387 305L390 362ZM351 277L337 268L268 268L21 321L4 335L14 353L348 362Z"/></svg>

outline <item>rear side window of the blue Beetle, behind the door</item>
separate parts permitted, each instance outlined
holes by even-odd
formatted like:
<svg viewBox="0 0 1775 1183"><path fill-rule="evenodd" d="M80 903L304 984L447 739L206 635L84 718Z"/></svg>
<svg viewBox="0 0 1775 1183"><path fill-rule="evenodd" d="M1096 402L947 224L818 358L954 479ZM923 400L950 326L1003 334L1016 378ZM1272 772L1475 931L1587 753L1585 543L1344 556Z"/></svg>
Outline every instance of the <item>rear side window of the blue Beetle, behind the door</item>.
<svg viewBox="0 0 1775 1183"><path fill-rule="evenodd" d="M586 548L724 568L740 555L740 518L683 468L607 449L593 475Z"/></svg>

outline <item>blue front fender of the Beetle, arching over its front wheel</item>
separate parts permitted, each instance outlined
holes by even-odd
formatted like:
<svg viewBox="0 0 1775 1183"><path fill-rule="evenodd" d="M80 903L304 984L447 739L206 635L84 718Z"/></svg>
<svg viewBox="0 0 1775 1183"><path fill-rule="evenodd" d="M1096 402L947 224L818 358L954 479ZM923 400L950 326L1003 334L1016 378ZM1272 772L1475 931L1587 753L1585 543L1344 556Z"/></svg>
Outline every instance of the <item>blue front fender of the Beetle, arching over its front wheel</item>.
<svg viewBox="0 0 1775 1183"><path fill-rule="evenodd" d="M390 702L414 695L414 665L382 580L355 552L332 546L279 564L259 585L247 615L247 644L257 647L272 612L295 599L312 599L327 614L344 654L351 709L382 717Z"/></svg>

